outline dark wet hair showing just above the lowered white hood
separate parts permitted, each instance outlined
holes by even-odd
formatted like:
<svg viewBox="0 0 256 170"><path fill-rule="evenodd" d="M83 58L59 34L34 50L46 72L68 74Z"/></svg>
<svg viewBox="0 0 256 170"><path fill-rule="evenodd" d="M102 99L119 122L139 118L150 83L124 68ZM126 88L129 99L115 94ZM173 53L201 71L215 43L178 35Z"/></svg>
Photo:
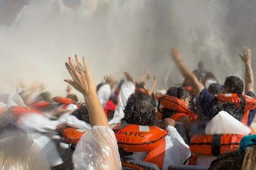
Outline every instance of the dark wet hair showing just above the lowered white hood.
<svg viewBox="0 0 256 170"><path fill-rule="evenodd" d="M217 115L220 111L228 112L238 121L241 121L244 115L244 111L234 103L222 102L220 104L216 104L214 106L214 115Z"/></svg>

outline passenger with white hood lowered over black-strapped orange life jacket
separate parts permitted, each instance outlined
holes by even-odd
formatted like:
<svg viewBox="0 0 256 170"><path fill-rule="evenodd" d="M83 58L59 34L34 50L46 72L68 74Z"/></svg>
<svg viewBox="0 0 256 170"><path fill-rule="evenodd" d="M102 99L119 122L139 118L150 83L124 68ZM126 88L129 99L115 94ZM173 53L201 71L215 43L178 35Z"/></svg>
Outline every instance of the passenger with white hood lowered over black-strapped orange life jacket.
<svg viewBox="0 0 256 170"><path fill-rule="evenodd" d="M241 138L251 132L241 123L242 109L233 103L218 104L214 114L216 116L206 126L206 135L191 138L191 165L209 166L219 154L239 148Z"/></svg>

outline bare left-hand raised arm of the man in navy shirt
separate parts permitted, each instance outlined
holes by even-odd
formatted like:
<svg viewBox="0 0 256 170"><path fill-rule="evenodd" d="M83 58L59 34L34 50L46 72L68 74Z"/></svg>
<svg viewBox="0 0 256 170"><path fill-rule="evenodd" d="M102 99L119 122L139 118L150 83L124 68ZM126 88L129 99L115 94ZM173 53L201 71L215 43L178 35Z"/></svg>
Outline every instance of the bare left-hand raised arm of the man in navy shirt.
<svg viewBox="0 0 256 170"><path fill-rule="evenodd" d="M183 77L191 81L194 94L198 96L204 86L197 80L196 75L194 75L192 71L187 67L178 48L172 48L170 55L176 63L176 66L180 69Z"/></svg>

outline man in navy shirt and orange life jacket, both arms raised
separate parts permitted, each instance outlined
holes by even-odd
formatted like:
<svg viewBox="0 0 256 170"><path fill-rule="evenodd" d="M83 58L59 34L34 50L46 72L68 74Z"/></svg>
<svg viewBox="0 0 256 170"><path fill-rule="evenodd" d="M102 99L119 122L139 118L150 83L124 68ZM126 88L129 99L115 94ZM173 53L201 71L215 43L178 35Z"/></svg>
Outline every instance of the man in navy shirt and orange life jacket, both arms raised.
<svg viewBox="0 0 256 170"><path fill-rule="evenodd" d="M245 94L244 84L238 77L231 76L227 77L224 83L224 94L220 94L217 97L210 94L204 86L198 81L197 77L191 72L186 66L181 53L177 48L173 48L170 52L173 60L180 69L183 76L191 80L193 92L198 96L199 103L203 110L205 118L211 120L214 114L214 106L221 102L232 102L236 103L237 106L244 110L244 116L242 122L250 126L256 113L256 99L254 94L254 77L251 67L251 50L248 47L244 47L244 56L240 55L242 61L245 63Z"/></svg>

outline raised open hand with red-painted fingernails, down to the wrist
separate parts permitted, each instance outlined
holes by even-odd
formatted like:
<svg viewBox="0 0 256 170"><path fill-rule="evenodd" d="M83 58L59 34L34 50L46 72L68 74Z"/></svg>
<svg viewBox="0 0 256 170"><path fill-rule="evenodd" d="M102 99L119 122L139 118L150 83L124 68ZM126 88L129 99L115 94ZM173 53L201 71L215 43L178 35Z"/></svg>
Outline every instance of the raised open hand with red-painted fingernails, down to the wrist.
<svg viewBox="0 0 256 170"><path fill-rule="evenodd" d="M94 80L91 75L91 72L87 66L85 58L82 58L83 67L79 61L79 58L75 55L76 65L73 60L69 57L69 63L66 63L66 68L71 75L72 80L65 79L67 83L73 86L76 90L81 92L84 96L89 95L90 93L95 93L96 87L94 85Z"/></svg>

